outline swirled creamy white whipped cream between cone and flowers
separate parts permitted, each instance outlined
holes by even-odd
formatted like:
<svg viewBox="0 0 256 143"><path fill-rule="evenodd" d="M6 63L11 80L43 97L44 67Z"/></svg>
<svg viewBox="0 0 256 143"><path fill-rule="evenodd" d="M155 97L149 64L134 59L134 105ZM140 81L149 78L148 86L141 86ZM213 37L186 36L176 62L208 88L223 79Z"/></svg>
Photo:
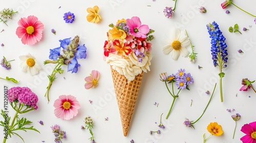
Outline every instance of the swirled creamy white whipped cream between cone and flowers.
<svg viewBox="0 0 256 143"><path fill-rule="evenodd" d="M133 81L142 71L145 73L147 70L150 71L151 59L151 55L145 54L145 57L142 58L142 62L139 62L134 52L132 52L128 57L110 54L109 57L106 58L106 62L120 75L124 75L128 81Z"/></svg>

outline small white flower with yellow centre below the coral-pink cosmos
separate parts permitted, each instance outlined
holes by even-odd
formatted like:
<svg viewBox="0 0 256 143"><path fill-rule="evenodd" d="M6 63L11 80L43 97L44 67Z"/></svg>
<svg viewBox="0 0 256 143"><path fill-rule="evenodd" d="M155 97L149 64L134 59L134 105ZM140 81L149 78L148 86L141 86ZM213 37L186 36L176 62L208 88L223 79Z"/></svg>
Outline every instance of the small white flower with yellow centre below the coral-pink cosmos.
<svg viewBox="0 0 256 143"><path fill-rule="evenodd" d="M41 70L40 65L36 62L34 56L30 53L28 55L19 56L20 59L20 67L25 73L29 73L30 75L34 76L39 73Z"/></svg>

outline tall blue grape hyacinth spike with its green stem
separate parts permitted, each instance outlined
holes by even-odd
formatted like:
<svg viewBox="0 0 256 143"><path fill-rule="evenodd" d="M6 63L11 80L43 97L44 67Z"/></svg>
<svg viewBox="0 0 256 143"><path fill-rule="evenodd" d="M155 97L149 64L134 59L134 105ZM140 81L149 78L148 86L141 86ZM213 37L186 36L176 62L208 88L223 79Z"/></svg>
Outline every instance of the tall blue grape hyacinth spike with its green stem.
<svg viewBox="0 0 256 143"><path fill-rule="evenodd" d="M221 91L221 102L223 102L223 94L222 94L222 78L224 77L224 73L222 72L222 68L227 67L227 44L225 42L226 38L223 36L221 30L219 29L219 25L213 21L206 25L209 37L211 38L211 55L214 66L219 66L220 69L220 91Z"/></svg>

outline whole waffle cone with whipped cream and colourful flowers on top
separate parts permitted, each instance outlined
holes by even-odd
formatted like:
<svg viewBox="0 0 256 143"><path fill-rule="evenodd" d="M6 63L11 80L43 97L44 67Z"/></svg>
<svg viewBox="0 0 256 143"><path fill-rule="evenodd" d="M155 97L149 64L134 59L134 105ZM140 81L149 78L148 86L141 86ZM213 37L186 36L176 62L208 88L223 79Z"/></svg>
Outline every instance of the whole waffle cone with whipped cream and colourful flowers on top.
<svg viewBox="0 0 256 143"><path fill-rule="evenodd" d="M111 23L104 43L105 61L111 65L112 78L119 107L123 135L126 136L143 73L150 71L154 30L141 25L139 17Z"/></svg>

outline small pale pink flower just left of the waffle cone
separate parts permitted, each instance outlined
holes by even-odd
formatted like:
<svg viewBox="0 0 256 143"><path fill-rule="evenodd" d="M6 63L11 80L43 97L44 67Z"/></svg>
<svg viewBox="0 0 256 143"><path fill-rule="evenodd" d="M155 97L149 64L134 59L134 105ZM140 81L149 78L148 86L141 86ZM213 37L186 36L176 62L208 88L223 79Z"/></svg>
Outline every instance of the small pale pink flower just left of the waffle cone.
<svg viewBox="0 0 256 143"><path fill-rule="evenodd" d="M86 77L84 80L86 81L86 84L84 84L86 89L96 87L99 80L99 71L92 70L90 76Z"/></svg>

